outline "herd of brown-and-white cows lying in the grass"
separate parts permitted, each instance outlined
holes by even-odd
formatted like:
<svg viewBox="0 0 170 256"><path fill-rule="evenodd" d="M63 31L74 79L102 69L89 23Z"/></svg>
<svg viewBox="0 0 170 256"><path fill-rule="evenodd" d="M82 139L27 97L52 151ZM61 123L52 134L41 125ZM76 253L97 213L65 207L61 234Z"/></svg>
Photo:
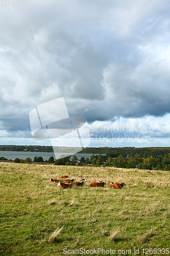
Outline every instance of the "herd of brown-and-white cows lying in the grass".
<svg viewBox="0 0 170 256"><path fill-rule="evenodd" d="M80 182L75 182L75 179L67 179L68 175L66 176L60 176L58 180L50 179L53 183L58 183L58 186L61 188L71 188L72 186L82 187L84 183L87 181L87 179L82 179ZM92 182L90 184L91 187L104 187L106 184L105 181L99 181L99 182ZM110 183L110 188L120 189L123 188L123 186L126 186L125 182L123 183Z"/></svg>

